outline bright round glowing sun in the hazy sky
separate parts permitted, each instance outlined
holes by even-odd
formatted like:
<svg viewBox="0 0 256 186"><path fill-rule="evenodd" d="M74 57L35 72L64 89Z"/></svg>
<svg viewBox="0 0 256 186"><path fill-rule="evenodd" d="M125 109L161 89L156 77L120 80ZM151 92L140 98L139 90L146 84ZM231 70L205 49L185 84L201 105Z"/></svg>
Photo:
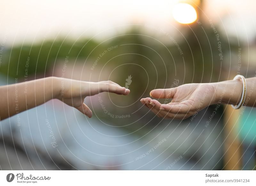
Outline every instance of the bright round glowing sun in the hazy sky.
<svg viewBox="0 0 256 186"><path fill-rule="evenodd" d="M181 24L193 23L197 18L196 10L187 3L178 3L172 10L173 18Z"/></svg>

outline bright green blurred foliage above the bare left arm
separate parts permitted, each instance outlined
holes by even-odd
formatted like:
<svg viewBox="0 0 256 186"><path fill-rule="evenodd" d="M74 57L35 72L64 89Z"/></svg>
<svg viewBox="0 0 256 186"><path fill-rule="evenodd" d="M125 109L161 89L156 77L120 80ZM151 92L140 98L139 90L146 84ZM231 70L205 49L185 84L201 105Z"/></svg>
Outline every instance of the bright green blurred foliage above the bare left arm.
<svg viewBox="0 0 256 186"><path fill-rule="evenodd" d="M62 39L33 45L18 45L4 52L4 62L0 68L0 73L9 77L24 77L25 70L28 68L27 72L30 76L44 74L58 59L63 59L66 56L85 58L96 46L97 43L93 40L80 40L74 43ZM26 66L28 58L29 66Z"/></svg>

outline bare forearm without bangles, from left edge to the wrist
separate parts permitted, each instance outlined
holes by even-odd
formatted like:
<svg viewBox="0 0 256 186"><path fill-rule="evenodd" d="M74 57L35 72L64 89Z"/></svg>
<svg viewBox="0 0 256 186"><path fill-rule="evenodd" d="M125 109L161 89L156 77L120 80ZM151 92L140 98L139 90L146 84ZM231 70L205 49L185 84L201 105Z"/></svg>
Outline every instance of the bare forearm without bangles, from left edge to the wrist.
<svg viewBox="0 0 256 186"><path fill-rule="evenodd" d="M0 120L56 98L57 81L48 77L0 87Z"/></svg>

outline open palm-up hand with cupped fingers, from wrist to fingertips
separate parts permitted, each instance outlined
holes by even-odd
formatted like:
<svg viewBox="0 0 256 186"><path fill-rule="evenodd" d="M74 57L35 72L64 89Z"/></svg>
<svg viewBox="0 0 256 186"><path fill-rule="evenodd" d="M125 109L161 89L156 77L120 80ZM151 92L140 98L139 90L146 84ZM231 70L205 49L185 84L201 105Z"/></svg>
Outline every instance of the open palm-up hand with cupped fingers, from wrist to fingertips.
<svg viewBox="0 0 256 186"><path fill-rule="evenodd" d="M215 86L211 83L192 83L171 89L155 89L150 92L150 96L164 98L166 103L170 102L161 104L149 97L140 100L158 117L165 119L182 120L216 103Z"/></svg>

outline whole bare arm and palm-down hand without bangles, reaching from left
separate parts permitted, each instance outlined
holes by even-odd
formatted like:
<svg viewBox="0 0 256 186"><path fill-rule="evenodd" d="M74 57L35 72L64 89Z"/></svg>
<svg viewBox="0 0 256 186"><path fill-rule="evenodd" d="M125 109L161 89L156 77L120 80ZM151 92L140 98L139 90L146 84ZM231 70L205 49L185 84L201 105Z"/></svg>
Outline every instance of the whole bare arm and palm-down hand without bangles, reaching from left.
<svg viewBox="0 0 256 186"><path fill-rule="evenodd" d="M128 95L130 90L112 81L88 82L58 77L1 86L0 120L42 105L51 99L59 99L91 118L92 111L84 104L84 98L100 92Z"/></svg>

